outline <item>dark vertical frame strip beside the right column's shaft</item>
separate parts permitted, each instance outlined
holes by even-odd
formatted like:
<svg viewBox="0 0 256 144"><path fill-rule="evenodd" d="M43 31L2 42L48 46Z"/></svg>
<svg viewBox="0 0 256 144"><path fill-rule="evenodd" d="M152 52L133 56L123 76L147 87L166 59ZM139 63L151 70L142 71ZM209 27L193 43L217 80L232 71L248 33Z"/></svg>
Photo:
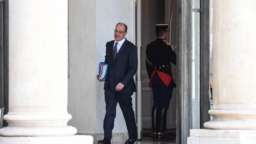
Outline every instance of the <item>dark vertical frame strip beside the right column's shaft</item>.
<svg viewBox="0 0 256 144"><path fill-rule="evenodd" d="M210 0L200 0L200 129L210 121Z"/></svg>

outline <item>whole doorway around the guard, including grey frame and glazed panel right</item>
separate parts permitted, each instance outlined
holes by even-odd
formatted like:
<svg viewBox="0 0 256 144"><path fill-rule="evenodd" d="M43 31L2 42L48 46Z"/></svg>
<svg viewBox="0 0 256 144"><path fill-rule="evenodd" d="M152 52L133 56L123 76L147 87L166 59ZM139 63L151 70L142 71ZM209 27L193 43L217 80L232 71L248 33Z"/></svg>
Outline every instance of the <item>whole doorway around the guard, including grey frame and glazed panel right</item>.
<svg viewBox="0 0 256 144"><path fill-rule="evenodd" d="M137 46L140 57L141 104L138 132L152 132L152 90L145 68L146 46L155 36L156 23L168 23L172 0L138 1ZM172 66L177 88L168 110L167 129L174 130L176 143L187 143L190 129L203 128L210 120L209 103L209 0L173 0L171 43L178 46L177 66ZM138 88L139 89L139 88ZM138 108L139 110L139 108ZM140 130L139 130L140 129Z"/></svg>

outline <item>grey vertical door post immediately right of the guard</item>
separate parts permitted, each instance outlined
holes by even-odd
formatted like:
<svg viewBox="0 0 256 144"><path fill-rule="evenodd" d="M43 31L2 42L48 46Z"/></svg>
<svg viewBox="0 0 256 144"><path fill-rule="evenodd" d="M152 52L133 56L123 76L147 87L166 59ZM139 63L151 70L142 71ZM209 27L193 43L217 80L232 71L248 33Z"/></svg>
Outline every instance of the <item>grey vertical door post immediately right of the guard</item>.
<svg viewBox="0 0 256 144"><path fill-rule="evenodd" d="M177 143L187 143L191 129L192 2L178 1Z"/></svg>

